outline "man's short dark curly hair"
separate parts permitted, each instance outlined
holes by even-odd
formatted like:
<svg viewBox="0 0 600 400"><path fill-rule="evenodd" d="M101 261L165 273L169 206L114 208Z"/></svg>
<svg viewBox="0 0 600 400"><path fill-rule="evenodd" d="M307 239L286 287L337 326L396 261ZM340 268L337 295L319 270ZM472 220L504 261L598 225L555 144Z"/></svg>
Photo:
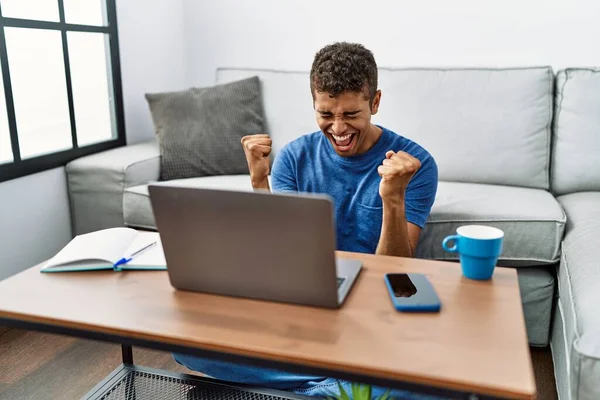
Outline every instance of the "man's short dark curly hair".
<svg viewBox="0 0 600 400"><path fill-rule="evenodd" d="M377 92L377 64L373 53L357 43L338 42L315 55L310 70L310 90L336 97L360 92L373 101Z"/></svg>

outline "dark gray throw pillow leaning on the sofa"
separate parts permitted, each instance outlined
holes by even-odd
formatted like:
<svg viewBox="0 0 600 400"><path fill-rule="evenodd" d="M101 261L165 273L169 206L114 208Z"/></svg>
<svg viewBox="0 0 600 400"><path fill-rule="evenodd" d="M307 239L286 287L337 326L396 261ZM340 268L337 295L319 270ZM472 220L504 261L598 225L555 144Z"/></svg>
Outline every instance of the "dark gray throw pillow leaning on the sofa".
<svg viewBox="0 0 600 400"><path fill-rule="evenodd" d="M148 93L161 180L247 174L245 135L266 132L258 77L189 90Z"/></svg>

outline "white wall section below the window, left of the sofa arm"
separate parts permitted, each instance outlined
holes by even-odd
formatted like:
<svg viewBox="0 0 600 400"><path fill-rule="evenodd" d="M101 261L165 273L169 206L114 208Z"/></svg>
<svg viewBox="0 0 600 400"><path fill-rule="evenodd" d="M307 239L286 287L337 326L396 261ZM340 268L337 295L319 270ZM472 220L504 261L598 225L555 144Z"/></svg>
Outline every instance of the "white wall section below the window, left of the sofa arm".
<svg viewBox="0 0 600 400"><path fill-rule="evenodd" d="M0 280L71 240L66 179L61 167L0 183Z"/></svg>

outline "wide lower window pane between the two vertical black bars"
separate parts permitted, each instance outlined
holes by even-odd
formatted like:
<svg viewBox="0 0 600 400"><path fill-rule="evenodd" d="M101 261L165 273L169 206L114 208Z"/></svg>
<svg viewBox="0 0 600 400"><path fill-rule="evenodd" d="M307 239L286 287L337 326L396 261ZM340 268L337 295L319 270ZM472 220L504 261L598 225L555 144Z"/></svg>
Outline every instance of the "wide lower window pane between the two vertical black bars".
<svg viewBox="0 0 600 400"><path fill-rule="evenodd" d="M59 31L5 28L21 158L72 147Z"/></svg>

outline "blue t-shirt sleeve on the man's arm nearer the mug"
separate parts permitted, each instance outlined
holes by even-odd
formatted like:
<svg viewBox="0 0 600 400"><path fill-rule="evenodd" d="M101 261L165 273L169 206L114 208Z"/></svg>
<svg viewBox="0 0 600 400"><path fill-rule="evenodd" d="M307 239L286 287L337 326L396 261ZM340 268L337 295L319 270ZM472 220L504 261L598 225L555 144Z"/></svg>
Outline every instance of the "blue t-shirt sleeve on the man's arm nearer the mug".
<svg viewBox="0 0 600 400"><path fill-rule="evenodd" d="M406 221L425 227L431 207L435 200L438 185L438 169L433 157L429 155L421 168L412 177L404 194Z"/></svg>

